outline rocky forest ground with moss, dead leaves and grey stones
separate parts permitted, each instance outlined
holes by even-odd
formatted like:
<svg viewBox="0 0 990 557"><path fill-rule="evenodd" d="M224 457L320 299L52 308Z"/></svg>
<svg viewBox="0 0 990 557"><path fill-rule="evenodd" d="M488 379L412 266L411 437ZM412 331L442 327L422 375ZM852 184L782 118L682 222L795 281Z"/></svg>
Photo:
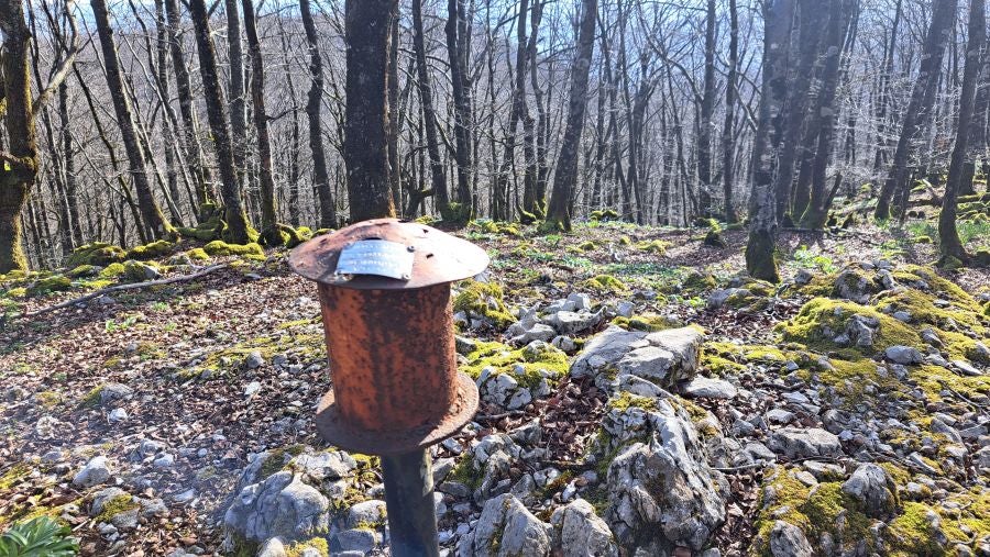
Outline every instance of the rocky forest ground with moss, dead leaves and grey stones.
<svg viewBox="0 0 990 557"><path fill-rule="evenodd" d="M435 449L448 555L990 555L990 274L936 271L925 223L784 233L780 286L738 275L740 231L460 234L492 265L454 287L482 408ZM284 252L193 247L0 277L0 530L387 553L377 459L314 427L314 286Z"/></svg>

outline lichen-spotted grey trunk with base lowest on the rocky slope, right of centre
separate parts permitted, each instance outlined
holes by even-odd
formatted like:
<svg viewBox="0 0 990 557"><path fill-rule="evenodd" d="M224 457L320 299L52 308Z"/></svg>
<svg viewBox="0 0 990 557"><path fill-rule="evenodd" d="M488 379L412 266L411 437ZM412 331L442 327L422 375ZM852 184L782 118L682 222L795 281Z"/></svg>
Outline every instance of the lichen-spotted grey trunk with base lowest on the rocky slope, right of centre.
<svg viewBox="0 0 990 557"><path fill-rule="evenodd" d="M779 282L773 250L777 244L777 199L773 161L783 133L788 91L788 57L795 0L773 0L763 8L763 80L757 133L752 145L752 192L749 199L749 241L746 270L754 278Z"/></svg>

